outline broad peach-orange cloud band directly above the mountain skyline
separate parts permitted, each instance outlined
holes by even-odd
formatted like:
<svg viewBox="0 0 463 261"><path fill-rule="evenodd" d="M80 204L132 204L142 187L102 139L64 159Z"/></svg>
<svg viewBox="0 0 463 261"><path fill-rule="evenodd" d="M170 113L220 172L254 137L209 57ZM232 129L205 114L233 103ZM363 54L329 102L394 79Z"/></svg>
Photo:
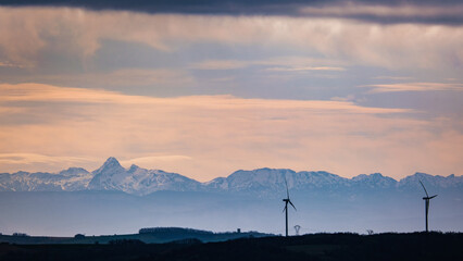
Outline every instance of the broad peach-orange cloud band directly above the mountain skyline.
<svg viewBox="0 0 463 261"><path fill-rule="evenodd" d="M2 172L93 170L110 156L200 181L263 166L397 178L417 167L463 172L455 157L463 135L454 123L410 119L412 110L346 100L141 97L34 83L3 84L0 91Z"/></svg>

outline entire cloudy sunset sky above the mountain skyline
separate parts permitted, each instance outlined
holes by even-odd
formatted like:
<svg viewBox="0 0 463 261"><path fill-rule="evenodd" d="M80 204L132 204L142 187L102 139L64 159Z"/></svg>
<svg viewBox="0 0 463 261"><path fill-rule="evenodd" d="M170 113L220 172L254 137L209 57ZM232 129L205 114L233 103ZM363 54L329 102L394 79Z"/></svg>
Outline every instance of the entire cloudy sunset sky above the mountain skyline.
<svg viewBox="0 0 463 261"><path fill-rule="evenodd" d="M2 1L0 173L462 175L461 1Z"/></svg>

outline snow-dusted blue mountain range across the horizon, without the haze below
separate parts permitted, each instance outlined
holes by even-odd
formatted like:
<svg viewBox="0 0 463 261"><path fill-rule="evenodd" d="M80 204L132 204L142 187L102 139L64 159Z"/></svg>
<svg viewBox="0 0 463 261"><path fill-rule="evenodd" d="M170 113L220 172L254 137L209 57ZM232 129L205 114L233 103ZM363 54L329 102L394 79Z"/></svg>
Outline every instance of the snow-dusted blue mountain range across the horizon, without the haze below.
<svg viewBox="0 0 463 261"><path fill-rule="evenodd" d="M439 176L415 173L400 181L380 173L361 174L352 178L328 172L295 172L288 169L258 169L236 171L227 177L217 177L200 183L180 174L161 170L146 170L137 165L124 169L111 157L93 172L71 167L59 173L16 172L0 174L0 191L80 191L109 190L145 196L155 191L214 191L271 195L285 190L285 182L291 190L340 190L340 189L421 189L418 181L429 189L463 188L463 176Z"/></svg>

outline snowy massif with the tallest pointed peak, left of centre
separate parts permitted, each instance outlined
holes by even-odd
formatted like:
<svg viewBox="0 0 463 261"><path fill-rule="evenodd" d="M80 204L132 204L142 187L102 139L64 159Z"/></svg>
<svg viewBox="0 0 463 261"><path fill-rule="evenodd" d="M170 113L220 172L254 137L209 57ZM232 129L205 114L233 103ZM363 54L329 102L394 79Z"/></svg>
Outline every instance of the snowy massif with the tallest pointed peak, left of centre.
<svg viewBox="0 0 463 261"><path fill-rule="evenodd" d="M176 173L146 170L137 165L126 170L115 158L109 158L93 171L93 175L88 189L120 190L139 196L158 190L195 191L201 187L199 182Z"/></svg>

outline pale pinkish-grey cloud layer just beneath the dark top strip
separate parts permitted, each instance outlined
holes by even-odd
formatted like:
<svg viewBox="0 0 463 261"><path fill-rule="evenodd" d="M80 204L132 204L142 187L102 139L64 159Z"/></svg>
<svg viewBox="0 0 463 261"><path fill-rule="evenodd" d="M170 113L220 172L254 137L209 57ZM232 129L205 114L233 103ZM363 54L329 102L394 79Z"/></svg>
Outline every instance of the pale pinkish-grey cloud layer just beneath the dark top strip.
<svg viewBox="0 0 463 261"><path fill-rule="evenodd" d="M47 50L85 64L105 39L141 44L168 53L197 44L289 49L347 65L392 70L456 72L463 64L461 26L380 25L326 17L150 15L68 8L0 8L0 57L3 63L12 64L37 65L51 59ZM207 61L202 66L245 66L238 61L212 63Z"/></svg>

